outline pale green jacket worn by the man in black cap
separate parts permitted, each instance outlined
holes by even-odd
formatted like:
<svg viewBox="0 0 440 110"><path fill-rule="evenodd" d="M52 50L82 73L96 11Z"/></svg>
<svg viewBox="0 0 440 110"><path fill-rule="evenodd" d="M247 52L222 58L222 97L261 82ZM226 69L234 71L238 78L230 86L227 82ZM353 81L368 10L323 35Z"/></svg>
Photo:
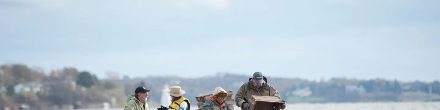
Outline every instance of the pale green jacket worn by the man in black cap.
<svg viewBox="0 0 440 110"><path fill-rule="evenodd" d="M145 106L145 109L143 109ZM128 94L127 105L125 105L124 110L148 110L147 101L142 103L134 95Z"/></svg>

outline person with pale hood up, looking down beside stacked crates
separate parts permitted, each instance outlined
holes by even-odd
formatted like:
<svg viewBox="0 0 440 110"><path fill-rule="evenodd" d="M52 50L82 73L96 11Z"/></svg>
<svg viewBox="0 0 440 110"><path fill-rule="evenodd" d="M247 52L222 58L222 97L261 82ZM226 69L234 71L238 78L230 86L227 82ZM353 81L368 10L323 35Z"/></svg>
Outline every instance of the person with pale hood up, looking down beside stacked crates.
<svg viewBox="0 0 440 110"><path fill-rule="evenodd" d="M232 110L225 102L226 97L227 92L223 88L217 87L213 95L203 104L202 110Z"/></svg>

